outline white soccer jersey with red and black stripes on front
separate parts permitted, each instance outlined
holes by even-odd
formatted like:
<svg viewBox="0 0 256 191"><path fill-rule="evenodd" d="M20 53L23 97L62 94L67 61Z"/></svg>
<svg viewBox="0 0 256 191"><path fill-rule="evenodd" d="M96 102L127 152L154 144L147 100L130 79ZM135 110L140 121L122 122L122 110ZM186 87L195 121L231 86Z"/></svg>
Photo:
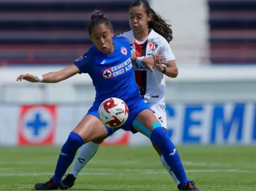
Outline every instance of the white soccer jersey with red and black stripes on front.
<svg viewBox="0 0 256 191"><path fill-rule="evenodd" d="M166 56L166 59L163 61L175 60L175 56L166 39L154 30L151 30L147 39L141 42L135 39L132 30L118 36L124 36L129 39L131 53L133 55L149 57L153 56L153 54L160 54ZM133 68L135 69L135 78L142 97L144 97L148 103L164 101L164 92L166 90L164 74L159 72L155 67L155 74L152 74L143 64L137 64L133 66Z"/></svg>

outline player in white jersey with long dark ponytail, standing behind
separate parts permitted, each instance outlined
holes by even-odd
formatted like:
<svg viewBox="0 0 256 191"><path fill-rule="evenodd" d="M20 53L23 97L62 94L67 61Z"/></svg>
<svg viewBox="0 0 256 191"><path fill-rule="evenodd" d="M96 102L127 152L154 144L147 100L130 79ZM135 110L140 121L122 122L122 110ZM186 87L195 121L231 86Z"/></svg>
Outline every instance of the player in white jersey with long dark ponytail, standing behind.
<svg viewBox="0 0 256 191"><path fill-rule="evenodd" d="M135 69L136 82L139 86L141 95L149 104L150 109L154 111L154 114L160 120L161 125L166 128L166 106L164 103L165 82L163 75L167 75L170 78L175 78L178 75L178 69L175 65L175 57L169 47L169 42L173 39L172 29L170 29L169 24L162 20L162 18L150 8L148 2L141 0L135 1L131 4L129 13L130 27L132 30L118 36L124 36L129 39L132 49L131 53L132 55L136 55L139 62L133 66L133 68ZM140 61L143 60L143 62L147 63L150 61L149 57L154 54L161 54L164 56L166 59L164 59L164 62L162 63L167 67L162 66L161 63L158 62L154 68L154 75L152 75L149 69L140 63ZM147 58L147 60L145 58ZM104 138L89 142L82 146L70 173L62 181L61 188L66 189L74 186L76 177L82 168L95 155ZM178 188L181 189L179 180L164 160L163 155L157 147L155 147L155 149L160 155L160 161L168 173L173 177ZM194 182L191 181L191 183L194 186Z"/></svg>

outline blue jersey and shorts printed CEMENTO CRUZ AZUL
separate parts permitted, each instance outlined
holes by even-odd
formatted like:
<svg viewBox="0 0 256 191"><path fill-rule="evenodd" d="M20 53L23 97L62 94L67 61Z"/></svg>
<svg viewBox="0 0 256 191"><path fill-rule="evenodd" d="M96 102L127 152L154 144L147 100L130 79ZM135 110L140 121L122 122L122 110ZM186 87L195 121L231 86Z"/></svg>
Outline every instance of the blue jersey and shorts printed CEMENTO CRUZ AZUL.
<svg viewBox="0 0 256 191"><path fill-rule="evenodd" d="M130 43L125 37L113 37L114 52L103 54L92 46L86 54L78 58L74 64L80 73L88 73L93 80L96 98L87 114L98 116L97 110L103 100L119 98L129 107L129 117L122 129L132 131L132 122L137 115L150 109L139 93L133 74ZM111 129L111 128L110 128ZM109 133L109 128L107 128Z"/></svg>

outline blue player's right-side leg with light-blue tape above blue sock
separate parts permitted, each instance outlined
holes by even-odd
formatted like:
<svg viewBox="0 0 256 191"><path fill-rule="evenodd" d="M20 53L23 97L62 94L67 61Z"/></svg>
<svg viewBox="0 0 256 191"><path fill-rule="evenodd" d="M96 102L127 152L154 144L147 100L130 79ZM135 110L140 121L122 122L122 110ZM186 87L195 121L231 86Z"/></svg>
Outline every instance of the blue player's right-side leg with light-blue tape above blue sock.
<svg viewBox="0 0 256 191"><path fill-rule="evenodd" d="M144 107L143 104L141 106ZM172 168L180 181L181 190L200 190L188 181L178 151L176 151L174 144L170 141L166 131L164 131L159 120L151 110L145 109L141 111L134 120L133 127L149 137L160 149L167 164Z"/></svg>

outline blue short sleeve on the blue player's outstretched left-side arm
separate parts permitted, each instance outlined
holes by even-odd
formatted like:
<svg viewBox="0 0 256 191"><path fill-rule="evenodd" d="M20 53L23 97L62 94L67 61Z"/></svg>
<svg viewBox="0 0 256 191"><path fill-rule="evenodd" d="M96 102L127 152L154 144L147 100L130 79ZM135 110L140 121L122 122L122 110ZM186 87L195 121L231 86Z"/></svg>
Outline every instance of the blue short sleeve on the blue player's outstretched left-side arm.
<svg viewBox="0 0 256 191"><path fill-rule="evenodd" d="M89 50L83 56L80 56L74 62L74 65L80 70L81 73L88 73L88 69L90 68L90 63L92 63L92 53Z"/></svg>

